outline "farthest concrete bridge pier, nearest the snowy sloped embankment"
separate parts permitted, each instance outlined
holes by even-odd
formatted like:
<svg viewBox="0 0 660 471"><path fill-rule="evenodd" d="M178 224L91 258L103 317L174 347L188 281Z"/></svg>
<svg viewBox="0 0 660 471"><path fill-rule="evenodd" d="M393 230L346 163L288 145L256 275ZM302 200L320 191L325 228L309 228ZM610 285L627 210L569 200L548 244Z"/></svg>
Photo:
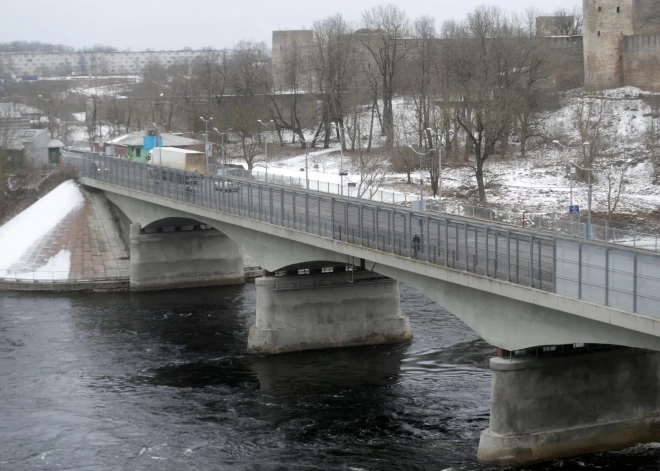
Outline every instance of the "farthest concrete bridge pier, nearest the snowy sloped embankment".
<svg viewBox="0 0 660 471"><path fill-rule="evenodd" d="M236 243L215 230L142 234L131 224L130 287L149 291L245 282Z"/></svg>

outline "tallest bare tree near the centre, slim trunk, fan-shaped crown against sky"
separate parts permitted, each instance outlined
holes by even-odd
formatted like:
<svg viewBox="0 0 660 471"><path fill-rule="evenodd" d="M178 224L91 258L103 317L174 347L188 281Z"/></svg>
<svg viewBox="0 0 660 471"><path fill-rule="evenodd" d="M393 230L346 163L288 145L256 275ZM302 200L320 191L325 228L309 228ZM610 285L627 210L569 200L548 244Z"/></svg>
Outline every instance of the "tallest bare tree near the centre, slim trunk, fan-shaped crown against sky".
<svg viewBox="0 0 660 471"><path fill-rule="evenodd" d="M408 52L409 22L405 12L394 5L380 5L362 14L367 31L362 31L362 46L369 52L379 72L383 100L385 146L394 146L394 80Z"/></svg>

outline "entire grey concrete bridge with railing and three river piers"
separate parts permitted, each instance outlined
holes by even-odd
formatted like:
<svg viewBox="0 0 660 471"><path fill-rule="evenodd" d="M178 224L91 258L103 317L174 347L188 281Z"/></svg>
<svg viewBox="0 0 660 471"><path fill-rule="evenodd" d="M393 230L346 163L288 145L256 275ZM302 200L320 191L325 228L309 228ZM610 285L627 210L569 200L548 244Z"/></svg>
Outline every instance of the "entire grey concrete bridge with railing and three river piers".
<svg viewBox="0 0 660 471"><path fill-rule="evenodd" d="M660 439L655 253L101 156L79 166L130 225L132 289L242 282L241 250L267 270L251 352L407 341L399 281L443 305L498 348L482 461Z"/></svg>

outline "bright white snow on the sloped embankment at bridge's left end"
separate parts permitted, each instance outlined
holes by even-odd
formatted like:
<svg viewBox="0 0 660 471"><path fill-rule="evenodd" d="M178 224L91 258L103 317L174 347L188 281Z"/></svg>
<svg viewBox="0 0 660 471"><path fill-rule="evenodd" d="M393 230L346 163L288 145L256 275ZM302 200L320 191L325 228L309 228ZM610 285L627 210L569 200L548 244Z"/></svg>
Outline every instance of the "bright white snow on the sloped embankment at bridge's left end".
<svg viewBox="0 0 660 471"><path fill-rule="evenodd" d="M0 274L19 262L45 235L53 230L71 212L83 207L85 200L73 181L59 185L53 191L0 227ZM66 253L64 253L66 252ZM60 251L35 273L25 272L21 277L47 276L45 272L59 272L68 277L71 253ZM68 261L67 261L68 260ZM66 273L64 273L66 272ZM48 275L49 276L49 275ZM13 275L12 275L13 277Z"/></svg>

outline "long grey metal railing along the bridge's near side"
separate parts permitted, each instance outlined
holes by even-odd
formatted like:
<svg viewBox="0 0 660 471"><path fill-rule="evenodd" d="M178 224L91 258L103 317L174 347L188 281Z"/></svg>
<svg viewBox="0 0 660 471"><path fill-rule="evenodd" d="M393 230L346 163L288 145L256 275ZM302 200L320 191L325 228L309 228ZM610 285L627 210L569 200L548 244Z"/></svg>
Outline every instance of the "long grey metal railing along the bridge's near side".
<svg viewBox="0 0 660 471"><path fill-rule="evenodd" d="M94 160L101 159L99 165ZM92 165L94 164L94 165ZM660 256L570 234L519 230L446 214L249 178L83 157L91 180L221 214L331 238L532 288L660 317ZM269 177L270 180L270 177ZM236 191L223 191L232 188ZM194 210L193 210L194 211ZM417 243L413 234L419 234ZM558 253L559 252L559 253Z"/></svg>

